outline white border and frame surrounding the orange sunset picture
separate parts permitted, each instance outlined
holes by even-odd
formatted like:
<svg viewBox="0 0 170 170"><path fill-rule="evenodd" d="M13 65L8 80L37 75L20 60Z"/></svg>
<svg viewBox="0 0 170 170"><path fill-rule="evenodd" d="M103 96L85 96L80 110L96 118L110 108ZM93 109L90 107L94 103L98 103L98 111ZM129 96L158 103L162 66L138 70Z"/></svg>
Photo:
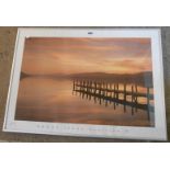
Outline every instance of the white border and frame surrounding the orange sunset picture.
<svg viewBox="0 0 170 170"><path fill-rule="evenodd" d="M121 126L15 120L18 91L25 39L29 37L150 38L155 99L155 126ZM15 42L3 132L167 140L161 31L159 29L20 27Z"/></svg>

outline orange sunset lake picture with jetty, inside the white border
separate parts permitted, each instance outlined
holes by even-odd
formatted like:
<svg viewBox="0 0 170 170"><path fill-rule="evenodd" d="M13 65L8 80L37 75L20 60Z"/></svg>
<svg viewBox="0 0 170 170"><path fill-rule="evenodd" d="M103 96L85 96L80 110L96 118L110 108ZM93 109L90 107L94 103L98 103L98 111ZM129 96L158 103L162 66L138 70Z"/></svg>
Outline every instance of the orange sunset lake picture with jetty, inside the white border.
<svg viewBox="0 0 170 170"><path fill-rule="evenodd" d="M155 126L150 38L29 37L15 120Z"/></svg>

